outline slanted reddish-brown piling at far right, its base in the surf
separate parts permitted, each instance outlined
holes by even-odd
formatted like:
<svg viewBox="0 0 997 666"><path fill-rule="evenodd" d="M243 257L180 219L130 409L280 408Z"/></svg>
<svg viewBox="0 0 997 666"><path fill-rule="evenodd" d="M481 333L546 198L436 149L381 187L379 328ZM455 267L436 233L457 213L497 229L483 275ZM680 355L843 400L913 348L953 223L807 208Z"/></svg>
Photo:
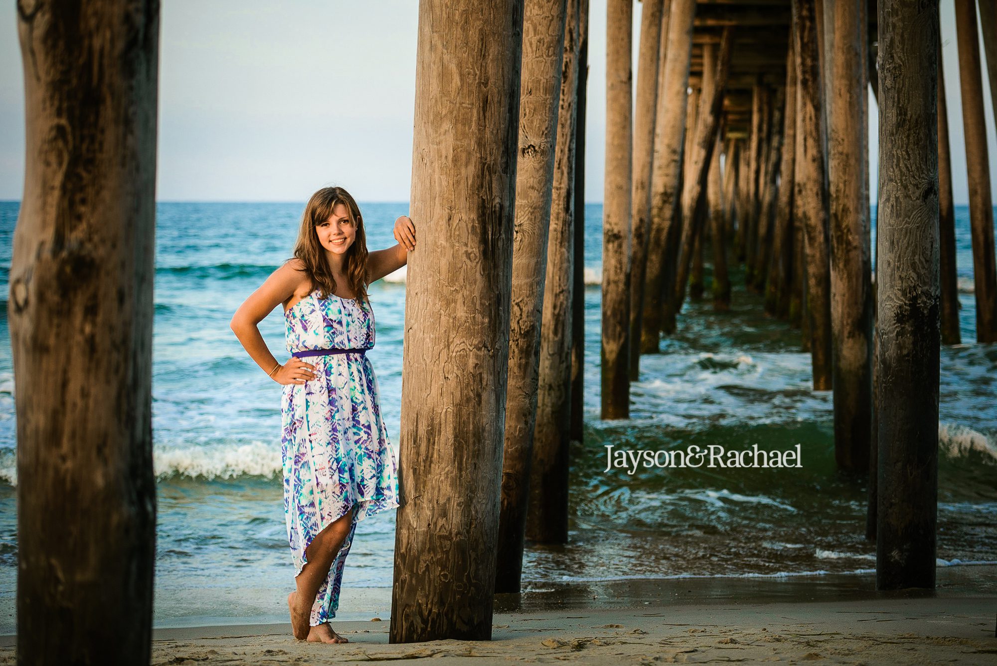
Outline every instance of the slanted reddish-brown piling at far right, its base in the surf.
<svg viewBox="0 0 997 666"><path fill-rule="evenodd" d="M997 342L997 267L994 265L994 210L990 162L983 116L983 83L976 34L976 3L955 3L959 46L962 124L969 179L969 221L973 236L973 282L976 296L976 341ZM881 70L880 70L881 71Z"/></svg>

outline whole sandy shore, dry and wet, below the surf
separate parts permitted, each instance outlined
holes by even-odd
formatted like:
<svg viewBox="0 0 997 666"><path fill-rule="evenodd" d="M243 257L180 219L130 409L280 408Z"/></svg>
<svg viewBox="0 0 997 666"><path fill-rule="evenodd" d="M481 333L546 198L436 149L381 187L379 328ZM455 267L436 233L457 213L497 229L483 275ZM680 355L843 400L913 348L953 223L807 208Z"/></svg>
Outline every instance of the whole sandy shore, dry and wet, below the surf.
<svg viewBox="0 0 997 666"><path fill-rule="evenodd" d="M333 622L347 644L297 641L289 623L161 628L152 663L997 664L997 566L937 571L935 590L890 592L872 575L558 583L498 595L491 641L390 644L385 594L383 617Z"/></svg>

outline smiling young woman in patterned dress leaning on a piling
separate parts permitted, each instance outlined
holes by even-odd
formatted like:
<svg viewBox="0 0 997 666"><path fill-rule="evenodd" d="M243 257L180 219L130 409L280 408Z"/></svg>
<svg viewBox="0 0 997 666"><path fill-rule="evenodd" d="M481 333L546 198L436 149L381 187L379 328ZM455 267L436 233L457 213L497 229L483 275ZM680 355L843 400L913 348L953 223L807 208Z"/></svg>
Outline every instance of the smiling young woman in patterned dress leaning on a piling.
<svg viewBox="0 0 997 666"><path fill-rule="evenodd" d="M364 222L342 187L305 206L294 257L239 306L231 327L263 372L284 386L281 457L284 515L296 590L287 606L295 638L346 643L329 626L357 521L398 506L394 450L381 419L367 286L407 262L412 220L395 220L394 247L367 252ZM287 351L280 364L256 325L283 304Z"/></svg>

